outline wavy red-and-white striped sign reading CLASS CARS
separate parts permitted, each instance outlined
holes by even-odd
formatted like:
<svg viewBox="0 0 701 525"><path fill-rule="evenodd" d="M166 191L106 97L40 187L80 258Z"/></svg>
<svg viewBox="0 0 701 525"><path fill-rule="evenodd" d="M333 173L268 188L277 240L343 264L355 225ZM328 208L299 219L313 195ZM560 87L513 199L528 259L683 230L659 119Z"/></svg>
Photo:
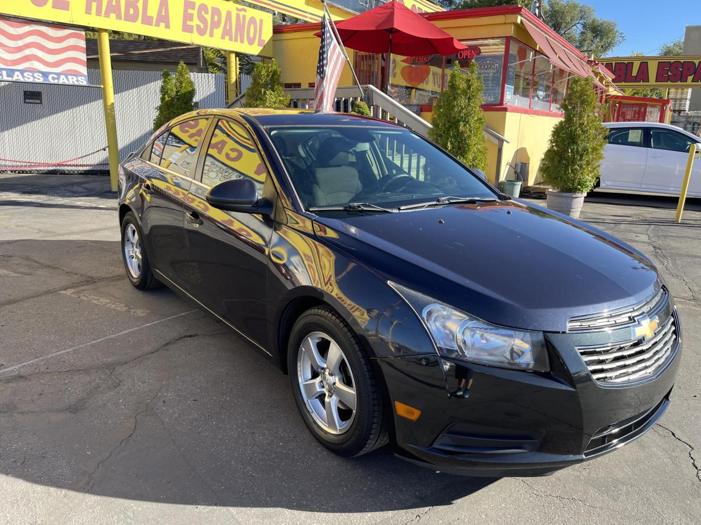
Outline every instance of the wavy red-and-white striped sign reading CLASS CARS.
<svg viewBox="0 0 701 525"><path fill-rule="evenodd" d="M88 85L85 32L0 16L0 80Z"/></svg>

